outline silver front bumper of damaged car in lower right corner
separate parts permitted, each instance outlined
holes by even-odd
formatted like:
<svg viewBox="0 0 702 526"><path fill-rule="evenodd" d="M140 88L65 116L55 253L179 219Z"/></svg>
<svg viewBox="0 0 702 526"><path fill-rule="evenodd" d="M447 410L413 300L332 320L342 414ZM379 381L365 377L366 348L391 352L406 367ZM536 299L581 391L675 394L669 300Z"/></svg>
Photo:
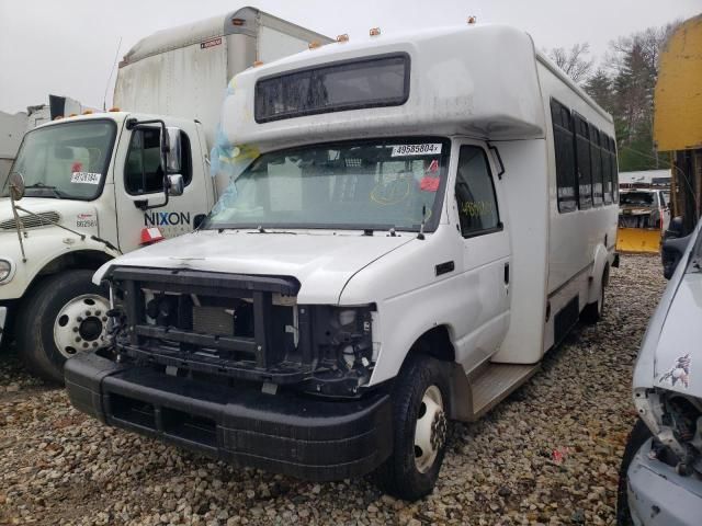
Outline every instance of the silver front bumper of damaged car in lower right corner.
<svg viewBox="0 0 702 526"><path fill-rule="evenodd" d="M702 517L702 480L681 477L649 458L652 439L636 451L627 471L627 500L635 525L697 526Z"/></svg>

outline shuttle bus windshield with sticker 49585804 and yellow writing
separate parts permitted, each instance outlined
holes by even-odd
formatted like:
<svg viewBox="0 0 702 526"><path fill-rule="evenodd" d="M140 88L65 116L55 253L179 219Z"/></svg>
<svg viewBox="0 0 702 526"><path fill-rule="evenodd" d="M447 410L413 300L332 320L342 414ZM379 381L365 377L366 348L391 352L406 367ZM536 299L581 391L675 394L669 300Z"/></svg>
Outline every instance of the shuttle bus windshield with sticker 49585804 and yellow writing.
<svg viewBox="0 0 702 526"><path fill-rule="evenodd" d="M435 228L450 142L443 138L315 145L264 153L203 228Z"/></svg>

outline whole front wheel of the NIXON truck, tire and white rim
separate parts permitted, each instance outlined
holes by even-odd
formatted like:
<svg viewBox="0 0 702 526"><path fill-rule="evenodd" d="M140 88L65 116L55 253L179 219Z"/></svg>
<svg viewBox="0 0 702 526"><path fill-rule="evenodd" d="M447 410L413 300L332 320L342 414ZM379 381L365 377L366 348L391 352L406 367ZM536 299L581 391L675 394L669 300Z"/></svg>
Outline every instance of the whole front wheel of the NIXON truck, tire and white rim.
<svg viewBox="0 0 702 526"><path fill-rule="evenodd" d="M66 359L104 343L110 302L92 275L80 270L48 276L26 298L15 323L18 353L37 376L63 384Z"/></svg>

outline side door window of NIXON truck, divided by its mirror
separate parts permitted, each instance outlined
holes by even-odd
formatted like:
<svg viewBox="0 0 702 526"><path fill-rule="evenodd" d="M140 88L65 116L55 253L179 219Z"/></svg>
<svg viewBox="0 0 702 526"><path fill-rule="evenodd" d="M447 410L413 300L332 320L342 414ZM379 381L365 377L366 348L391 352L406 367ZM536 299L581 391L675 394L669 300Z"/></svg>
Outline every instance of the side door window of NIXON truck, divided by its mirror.
<svg viewBox="0 0 702 526"><path fill-rule="evenodd" d="M129 194L150 194L163 191L163 170L159 151L161 129L136 128L132 133L124 168L124 184ZM185 184L192 180L190 140L181 132L181 174Z"/></svg>

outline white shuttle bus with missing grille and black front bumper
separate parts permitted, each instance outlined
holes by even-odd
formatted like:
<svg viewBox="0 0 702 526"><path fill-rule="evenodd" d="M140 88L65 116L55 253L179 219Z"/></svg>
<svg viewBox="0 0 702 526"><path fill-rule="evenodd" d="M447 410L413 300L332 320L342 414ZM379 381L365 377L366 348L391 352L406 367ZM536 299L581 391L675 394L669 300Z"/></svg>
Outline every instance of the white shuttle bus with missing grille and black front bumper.
<svg viewBox="0 0 702 526"><path fill-rule="evenodd" d="M414 500L448 420L599 319L610 115L524 32L371 35L235 78L222 163L251 160L195 232L98 271L112 339L67 362L76 408L238 465L374 471Z"/></svg>

